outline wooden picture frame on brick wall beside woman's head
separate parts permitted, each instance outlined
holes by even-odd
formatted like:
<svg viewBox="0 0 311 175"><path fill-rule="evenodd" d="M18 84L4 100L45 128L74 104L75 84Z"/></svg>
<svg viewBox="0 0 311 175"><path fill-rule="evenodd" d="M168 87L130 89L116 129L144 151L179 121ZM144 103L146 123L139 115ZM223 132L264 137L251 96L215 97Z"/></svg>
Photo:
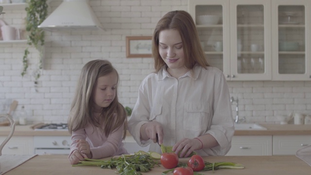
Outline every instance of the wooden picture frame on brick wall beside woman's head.
<svg viewBox="0 0 311 175"><path fill-rule="evenodd" d="M152 36L126 36L127 58L151 58Z"/></svg>

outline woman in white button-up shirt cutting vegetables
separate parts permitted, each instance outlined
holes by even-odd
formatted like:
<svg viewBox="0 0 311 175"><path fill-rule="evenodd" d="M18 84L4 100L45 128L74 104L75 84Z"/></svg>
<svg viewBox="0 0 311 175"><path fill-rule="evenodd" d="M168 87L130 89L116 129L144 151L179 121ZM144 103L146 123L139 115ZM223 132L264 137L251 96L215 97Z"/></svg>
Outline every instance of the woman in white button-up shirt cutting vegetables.
<svg viewBox="0 0 311 175"><path fill-rule="evenodd" d="M223 72L207 64L190 14L164 15L152 50L155 72L142 81L128 121L134 139L160 153L158 135L180 157L225 155L234 134L229 89Z"/></svg>

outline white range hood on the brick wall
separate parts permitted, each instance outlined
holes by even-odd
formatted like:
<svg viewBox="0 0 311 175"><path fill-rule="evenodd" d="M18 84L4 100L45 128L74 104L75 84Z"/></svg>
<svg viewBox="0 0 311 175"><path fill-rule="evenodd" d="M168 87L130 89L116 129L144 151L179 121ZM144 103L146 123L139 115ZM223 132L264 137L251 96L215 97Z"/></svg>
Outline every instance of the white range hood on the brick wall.
<svg viewBox="0 0 311 175"><path fill-rule="evenodd" d="M64 0L38 28L44 30L104 30L88 0Z"/></svg>

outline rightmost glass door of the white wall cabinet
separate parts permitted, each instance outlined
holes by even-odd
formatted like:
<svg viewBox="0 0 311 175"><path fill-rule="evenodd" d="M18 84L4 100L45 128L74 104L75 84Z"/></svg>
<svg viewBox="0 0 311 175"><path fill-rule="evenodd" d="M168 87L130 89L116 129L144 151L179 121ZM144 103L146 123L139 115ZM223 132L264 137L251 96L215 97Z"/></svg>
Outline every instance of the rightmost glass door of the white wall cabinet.
<svg viewBox="0 0 311 175"><path fill-rule="evenodd" d="M310 0L272 0L273 79L311 80L310 7Z"/></svg>

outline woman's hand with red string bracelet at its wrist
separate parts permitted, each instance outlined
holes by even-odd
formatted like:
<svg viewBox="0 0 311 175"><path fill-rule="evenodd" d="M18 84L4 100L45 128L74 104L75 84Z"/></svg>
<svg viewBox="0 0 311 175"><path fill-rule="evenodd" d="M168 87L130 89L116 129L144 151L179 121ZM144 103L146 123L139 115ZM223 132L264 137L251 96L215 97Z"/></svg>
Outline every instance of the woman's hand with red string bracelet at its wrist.
<svg viewBox="0 0 311 175"><path fill-rule="evenodd" d="M172 150L178 155L181 151L179 157L188 157L192 151L202 148L202 143L197 139L182 139L179 140L172 148Z"/></svg>

